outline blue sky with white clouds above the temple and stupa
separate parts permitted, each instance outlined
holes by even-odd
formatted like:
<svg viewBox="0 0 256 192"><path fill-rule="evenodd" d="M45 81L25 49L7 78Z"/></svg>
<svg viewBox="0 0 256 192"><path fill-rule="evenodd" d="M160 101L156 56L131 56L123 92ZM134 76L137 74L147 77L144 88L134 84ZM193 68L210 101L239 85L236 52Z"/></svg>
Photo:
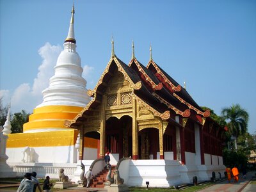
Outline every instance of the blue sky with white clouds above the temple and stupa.
<svg viewBox="0 0 256 192"><path fill-rule="evenodd" d="M12 113L42 102L70 22L72 0L0 0L0 96ZM256 131L256 1L75 1L75 36L87 88L111 56L154 61L200 106L240 104Z"/></svg>

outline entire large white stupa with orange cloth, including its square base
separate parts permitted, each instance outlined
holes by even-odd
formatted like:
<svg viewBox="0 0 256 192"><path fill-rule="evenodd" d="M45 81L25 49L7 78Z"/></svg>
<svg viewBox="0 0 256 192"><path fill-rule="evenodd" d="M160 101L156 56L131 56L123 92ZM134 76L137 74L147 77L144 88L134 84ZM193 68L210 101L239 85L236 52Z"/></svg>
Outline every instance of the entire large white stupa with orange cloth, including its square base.
<svg viewBox="0 0 256 192"><path fill-rule="evenodd" d="M71 13L64 50L58 57L49 87L42 92L43 102L29 115L29 122L23 125L23 133L8 134L9 162L24 159L24 150L28 147L36 154L32 158L33 162L77 161L75 145L78 131L66 127L65 121L74 119L90 101L90 97L86 90L86 80L82 77L81 59L76 52L74 5Z"/></svg>

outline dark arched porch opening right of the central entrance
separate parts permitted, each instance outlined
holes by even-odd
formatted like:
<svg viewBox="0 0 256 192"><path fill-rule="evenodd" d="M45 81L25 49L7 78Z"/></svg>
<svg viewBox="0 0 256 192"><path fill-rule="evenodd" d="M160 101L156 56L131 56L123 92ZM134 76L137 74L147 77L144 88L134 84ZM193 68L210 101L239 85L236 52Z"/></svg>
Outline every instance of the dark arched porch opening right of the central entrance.
<svg viewBox="0 0 256 192"><path fill-rule="evenodd" d="M138 134L138 140L139 159L160 159L158 129L141 130Z"/></svg>

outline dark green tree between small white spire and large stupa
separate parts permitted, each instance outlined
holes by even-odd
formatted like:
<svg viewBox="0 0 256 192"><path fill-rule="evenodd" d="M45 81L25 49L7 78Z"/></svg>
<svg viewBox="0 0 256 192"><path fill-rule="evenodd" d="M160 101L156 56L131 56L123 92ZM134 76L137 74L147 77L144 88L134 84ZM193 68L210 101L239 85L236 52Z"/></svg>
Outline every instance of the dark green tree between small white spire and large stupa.
<svg viewBox="0 0 256 192"><path fill-rule="evenodd" d="M23 124L28 122L29 113L22 110L19 113L14 113L11 120L12 133L23 132Z"/></svg>

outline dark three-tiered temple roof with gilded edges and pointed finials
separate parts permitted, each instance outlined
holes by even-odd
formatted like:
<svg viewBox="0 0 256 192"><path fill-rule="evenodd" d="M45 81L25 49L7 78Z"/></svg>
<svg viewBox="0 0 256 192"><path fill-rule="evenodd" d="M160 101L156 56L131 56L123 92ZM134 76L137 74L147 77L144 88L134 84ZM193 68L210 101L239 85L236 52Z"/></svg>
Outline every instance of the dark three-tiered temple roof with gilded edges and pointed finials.
<svg viewBox="0 0 256 192"><path fill-rule="evenodd" d="M88 94L93 97L86 108L72 121L66 122L68 127L76 127L83 122L83 115L102 103L102 95L108 86L109 80L118 70L124 74L124 79L129 81L134 88L134 97L143 102L154 115L163 120L175 120L175 116L190 118L191 120L204 124L205 118L210 116L210 111L204 111L172 77L170 77L152 59L150 49L150 61L147 67L142 65L134 56L134 45L132 44L132 59L129 65L117 58L114 52L112 40L111 59L93 90ZM150 47L151 48L151 47Z"/></svg>

